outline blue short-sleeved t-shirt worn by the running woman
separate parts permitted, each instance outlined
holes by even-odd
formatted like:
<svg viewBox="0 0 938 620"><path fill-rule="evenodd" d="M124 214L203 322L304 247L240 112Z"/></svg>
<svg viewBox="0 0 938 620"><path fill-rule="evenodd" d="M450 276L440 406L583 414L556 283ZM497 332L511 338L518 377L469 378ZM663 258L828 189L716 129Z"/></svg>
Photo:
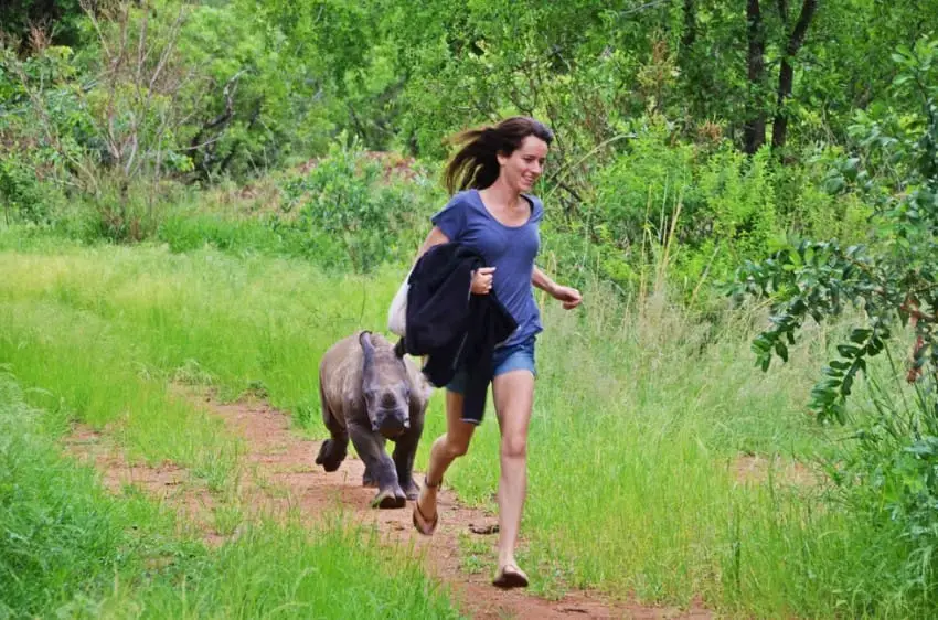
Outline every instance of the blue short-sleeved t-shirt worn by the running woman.
<svg viewBox="0 0 938 620"><path fill-rule="evenodd" d="M531 216L521 226L507 226L495 220L478 190L457 193L430 218L450 242L478 252L487 266L495 268L492 290L518 322L518 330L500 346L523 342L543 329L531 277L534 258L541 249L539 223L544 216L544 205L535 196L522 196L531 204Z"/></svg>

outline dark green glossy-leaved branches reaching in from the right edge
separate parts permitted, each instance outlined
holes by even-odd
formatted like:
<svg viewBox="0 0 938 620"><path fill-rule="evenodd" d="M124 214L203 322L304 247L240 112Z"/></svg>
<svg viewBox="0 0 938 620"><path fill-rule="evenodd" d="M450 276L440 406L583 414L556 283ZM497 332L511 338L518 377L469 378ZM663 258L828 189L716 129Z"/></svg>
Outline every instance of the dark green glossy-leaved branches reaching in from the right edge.
<svg viewBox="0 0 938 620"><path fill-rule="evenodd" d="M838 346L840 357L823 370L811 407L822 420L844 421L844 404L866 360L885 350L895 329L912 321L916 333L909 380L935 381L938 370L938 43L920 40L895 55L900 73L897 97L918 97L920 115L883 118L860 115L851 130L863 157L844 159L829 175L831 191L859 191L874 206L867 244L802 240L764 263L739 270L737 293L772 298L772 327L753 346L767 370L771 357L787 360L787 345L807 318L822 321L846 303L860 306L868 325L857 327ZM886 128L892 128L889 131ZM887 171L877 172L886 167ZM927 370L928 372L924 372Z"/></svg>

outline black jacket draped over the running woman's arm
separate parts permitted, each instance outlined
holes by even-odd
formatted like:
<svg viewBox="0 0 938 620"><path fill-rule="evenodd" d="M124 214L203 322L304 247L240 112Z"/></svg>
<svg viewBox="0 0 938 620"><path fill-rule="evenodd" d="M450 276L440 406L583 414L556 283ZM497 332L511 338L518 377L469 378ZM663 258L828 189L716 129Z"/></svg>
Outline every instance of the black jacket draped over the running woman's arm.
<svg viewBox="0 0 938 620"><path fill-rule="evenodd" d="M470 292L472 271L484 266L483 256L459 243L427 250L408 279L406 331L398 343L398 353L428 356L423 372L436 387L466 366L463 415L472 419L481 419L486 407L494 348L518 329L494 291Z"/></svg>

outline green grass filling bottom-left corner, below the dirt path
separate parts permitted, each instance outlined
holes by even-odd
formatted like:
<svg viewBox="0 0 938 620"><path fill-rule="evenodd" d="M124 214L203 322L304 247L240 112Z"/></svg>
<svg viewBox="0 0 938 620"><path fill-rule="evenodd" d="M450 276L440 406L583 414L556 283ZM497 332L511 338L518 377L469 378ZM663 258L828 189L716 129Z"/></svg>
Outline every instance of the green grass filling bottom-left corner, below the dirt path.
<svg viewBox="0 0 938 620"><path fill-rule="evenodd" d="M0 370L0 617L456 618L446 590L341 513L258 523L217 550L103 492Z"/></svg>

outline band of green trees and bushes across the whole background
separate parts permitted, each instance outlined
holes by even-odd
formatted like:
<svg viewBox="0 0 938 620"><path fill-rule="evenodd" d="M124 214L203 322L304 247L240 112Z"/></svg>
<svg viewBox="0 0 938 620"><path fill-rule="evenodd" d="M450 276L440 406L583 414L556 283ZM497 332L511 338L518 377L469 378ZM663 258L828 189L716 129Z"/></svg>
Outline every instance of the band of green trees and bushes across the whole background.
<svg viewBox="0 0 938 620"><path fill-rule="evenodd" d="M778 44L798 17L780 7L785 14L760 17ZM842 148L836 140L851 139L845 110L819 120L796 89L786 150L742 154L740 117L755 108L749 77L739 74L747 34L737 13L720 2L620 10L502 0L102 4L73 20L74 49L42 38L26 54L3 47L0 200L8 220L38 223L54 222L62 202L87 205L83 235L124 242L160 231L180 249L204 234L220 247L276 246L369 270L412 253L429 203L445 196L414 179L376 189L376 168L359 154L352 163L337 140L355 137L359 151L418 153L433 168L451 131L531 114L557 132L539 188L550 214L545 260L623 289L663 260L674 285L696 291L790 233L856 238L865 215L855 195L822 190L829 180L818 172ZM889 41L910 28L854 13ZM849 14L849 7L818 13L808 24L818 36L798 67L856 38ZM769 46L764 60L776 53ZM717 66L713 54L739 62ZM850 58L829 62L833 74L860 71ZM889 72L878 61L863 70L877 84ZM799 74L810 96L839 105L862 97L830 93L820 73ZM713 84L703 82L725 96L707 98ZM769 108L760 114L778 111ZM823 130L830 140L803 139ZM226 231L163 213L174 183L211 190L277 175L310 157L318 165L283 186L284 213L256 217L263 233L255 222ZM40 181L32 169L43 172Z"/></svg>

